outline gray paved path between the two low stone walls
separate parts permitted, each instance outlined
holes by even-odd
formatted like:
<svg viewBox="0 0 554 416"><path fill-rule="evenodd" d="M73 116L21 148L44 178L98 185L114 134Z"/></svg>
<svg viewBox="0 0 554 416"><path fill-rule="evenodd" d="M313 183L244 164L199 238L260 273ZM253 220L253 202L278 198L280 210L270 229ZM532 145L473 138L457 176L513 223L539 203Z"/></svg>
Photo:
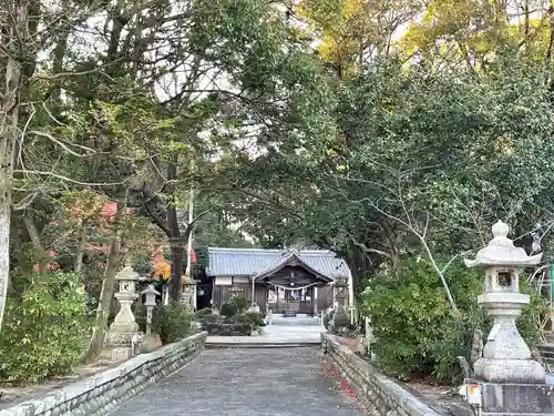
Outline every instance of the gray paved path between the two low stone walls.
<svg viewBox="0 0 554 416"><path fill-rule="evenodd" d="M317 348L207 349L112 416L361 416Z"/></svg>

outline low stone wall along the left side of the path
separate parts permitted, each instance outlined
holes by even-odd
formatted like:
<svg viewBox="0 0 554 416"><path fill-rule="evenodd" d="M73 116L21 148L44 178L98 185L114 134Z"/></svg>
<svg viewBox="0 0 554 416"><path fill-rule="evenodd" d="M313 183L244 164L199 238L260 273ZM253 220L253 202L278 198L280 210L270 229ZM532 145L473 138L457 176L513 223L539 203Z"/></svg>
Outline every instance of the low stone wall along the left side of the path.
<svg viewBox="0 0 554 416"><path fill-rule="evenodd" d="M102 416L194 359L206 333L141 354L115 368L0 410L0 416Z"/></svg>

